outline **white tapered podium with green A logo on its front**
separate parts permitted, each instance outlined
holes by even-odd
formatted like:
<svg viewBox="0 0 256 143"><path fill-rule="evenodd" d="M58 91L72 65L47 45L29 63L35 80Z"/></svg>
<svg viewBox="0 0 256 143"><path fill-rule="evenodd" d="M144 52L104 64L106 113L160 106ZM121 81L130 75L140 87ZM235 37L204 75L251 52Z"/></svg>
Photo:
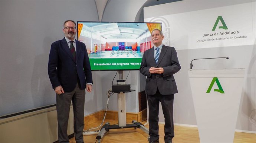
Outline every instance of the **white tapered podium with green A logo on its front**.
<svg viewBox="0 0 256 143"><path fill-rule="evenodd" d="M233 143L244 71L188 71L201 143Z"/></svg>

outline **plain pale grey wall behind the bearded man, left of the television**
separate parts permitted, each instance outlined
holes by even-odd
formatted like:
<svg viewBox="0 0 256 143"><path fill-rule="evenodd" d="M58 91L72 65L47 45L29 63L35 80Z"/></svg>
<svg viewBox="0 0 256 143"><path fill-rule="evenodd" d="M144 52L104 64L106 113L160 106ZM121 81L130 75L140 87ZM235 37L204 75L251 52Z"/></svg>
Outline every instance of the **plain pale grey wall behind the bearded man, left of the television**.
<svg viewBox="0 0 256 143"><path fill-rule="evenodd" d="M95 1L0 0L0 13L0 116L56 104L47 73L50 46L64 37L65 20L97 21ZM102 109L97 73L93 81L86 114Z"/></svg>

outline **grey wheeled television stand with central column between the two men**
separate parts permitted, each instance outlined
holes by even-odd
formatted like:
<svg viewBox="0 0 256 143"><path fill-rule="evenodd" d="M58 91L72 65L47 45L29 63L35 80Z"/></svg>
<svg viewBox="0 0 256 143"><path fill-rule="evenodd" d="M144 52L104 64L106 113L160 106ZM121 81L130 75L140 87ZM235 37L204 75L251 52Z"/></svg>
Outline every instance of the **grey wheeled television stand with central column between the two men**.
<svg viewBox="0 0 256 143"><path fill-rule="evenodd" d="M125 84L124 80L124 71L118 71L118 84ZM137 122L135 120L132 121L131 124L126 124L126 107L125 107L125 93L132 92L135 90L130 91L118 91L115 93L117 94L118 98L118 125L110 125L109 122L106 122L105 125L102 126L101 131L96 136L96 139L98 140L98 143L101 143L101 140L106 132L108 132L111 129L124 129L124 128L134 128L134 129L142 129L144 132L149 133L148 128L146 128L143 124L140 122Z"/></svg>

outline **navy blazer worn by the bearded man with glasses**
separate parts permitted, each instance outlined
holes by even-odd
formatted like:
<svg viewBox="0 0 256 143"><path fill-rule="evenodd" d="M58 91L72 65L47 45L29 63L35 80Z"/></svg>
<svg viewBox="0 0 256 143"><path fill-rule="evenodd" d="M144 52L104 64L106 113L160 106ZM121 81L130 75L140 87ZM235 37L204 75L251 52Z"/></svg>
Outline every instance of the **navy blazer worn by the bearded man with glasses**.
<svg viewBox="0 0 256 143"><path fill-rule="evenodd" d="M52 88L61 85L64 92L71 92L79 79L81 88L85 89L86 83L92 83L92 71L85 44L76 41L75 61L65 38L52 43L48 74Z"/></svg>

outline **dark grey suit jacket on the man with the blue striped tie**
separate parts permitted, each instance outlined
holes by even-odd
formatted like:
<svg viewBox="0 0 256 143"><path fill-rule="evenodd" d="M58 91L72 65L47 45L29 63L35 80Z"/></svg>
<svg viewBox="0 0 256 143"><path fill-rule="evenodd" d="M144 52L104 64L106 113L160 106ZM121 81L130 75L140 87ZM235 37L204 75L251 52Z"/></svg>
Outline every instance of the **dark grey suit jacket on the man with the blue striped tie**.
<svg viewBox="0 0 256 143"><path fill-rule="evenodd" d="M163 67L163 74L151 74L150 67ZM154 95L157 88L162 95L178 93L173 74L181 69L177 52L174 47L163 45L158 59L155 63L154 48L146 50L142 57L140 72L147 76L145 94Z"/></svg>

